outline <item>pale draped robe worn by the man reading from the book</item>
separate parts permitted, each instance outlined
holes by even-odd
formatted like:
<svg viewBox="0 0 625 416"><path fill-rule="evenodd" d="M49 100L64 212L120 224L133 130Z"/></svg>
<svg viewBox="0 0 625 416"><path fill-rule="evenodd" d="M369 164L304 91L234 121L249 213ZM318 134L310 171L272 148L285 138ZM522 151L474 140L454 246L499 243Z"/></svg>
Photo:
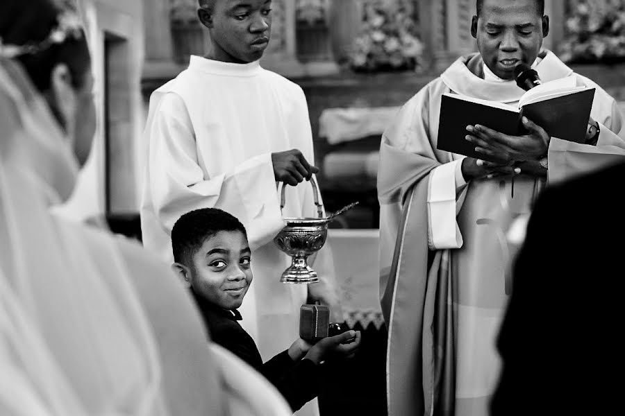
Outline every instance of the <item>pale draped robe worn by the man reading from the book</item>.
<svg viewBox="0 0 625 416"><path fill-rule="evenodd" d="M524 93L514 82L476 75L481 65L475 54L457 60L401 108L383 135L378 199L389 415L487 414L497 383L493 341L515 255L505 233L531 211L544 181L519 175L514 198L509 177L457 187L451 165L461 156L436 148L442 94L515 105ZM578 85L595 87L591 116L602 130L597 146L552 139L550 176L581 173L575 158L599 167L622 154L623 119L612 97L553 53L544 53L535 69L543 81L574 76ZM433 238L437 232L444 238Z"/></svg>

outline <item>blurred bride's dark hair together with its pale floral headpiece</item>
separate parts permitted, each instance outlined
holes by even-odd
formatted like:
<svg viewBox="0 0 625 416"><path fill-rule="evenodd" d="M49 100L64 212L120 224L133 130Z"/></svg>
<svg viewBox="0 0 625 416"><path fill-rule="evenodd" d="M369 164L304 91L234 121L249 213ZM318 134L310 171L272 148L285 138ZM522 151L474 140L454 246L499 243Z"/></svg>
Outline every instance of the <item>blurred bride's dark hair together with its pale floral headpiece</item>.
<svg viewBox="0 0 625 416"><path fill-rule="evenodd" d="M76 89L91 64L76 10L52 0L0 1L0 56L21 62L40 92L49 89L57 64L67 65Z"/></svg>

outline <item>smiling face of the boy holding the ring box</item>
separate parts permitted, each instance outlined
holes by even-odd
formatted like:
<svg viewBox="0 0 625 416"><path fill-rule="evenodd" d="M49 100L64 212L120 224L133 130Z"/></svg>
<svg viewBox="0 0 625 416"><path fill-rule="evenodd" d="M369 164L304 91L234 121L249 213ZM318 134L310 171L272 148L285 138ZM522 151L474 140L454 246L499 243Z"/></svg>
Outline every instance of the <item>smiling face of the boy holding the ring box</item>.
<svg viewBox="0 0 625 416"><path fill-rule="evenodd" d="M206 239L193 256L193 291L224 309L237 309L252 281L250 257L240 231L222 231Z"/></svg>

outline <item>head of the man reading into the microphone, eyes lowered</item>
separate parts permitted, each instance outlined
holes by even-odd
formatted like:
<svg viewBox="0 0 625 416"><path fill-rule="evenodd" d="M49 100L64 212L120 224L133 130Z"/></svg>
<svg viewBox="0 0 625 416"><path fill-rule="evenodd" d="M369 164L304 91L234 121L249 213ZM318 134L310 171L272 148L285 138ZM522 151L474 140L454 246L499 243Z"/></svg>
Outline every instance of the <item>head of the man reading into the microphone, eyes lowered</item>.
<svg viewBox="0 0 625 416"><path fill-rule="evenodd" d="M548 33L549 17L541 15L537 0L483 0L471 25L485 64L506 80L518 64L533 64Z"/></svg>

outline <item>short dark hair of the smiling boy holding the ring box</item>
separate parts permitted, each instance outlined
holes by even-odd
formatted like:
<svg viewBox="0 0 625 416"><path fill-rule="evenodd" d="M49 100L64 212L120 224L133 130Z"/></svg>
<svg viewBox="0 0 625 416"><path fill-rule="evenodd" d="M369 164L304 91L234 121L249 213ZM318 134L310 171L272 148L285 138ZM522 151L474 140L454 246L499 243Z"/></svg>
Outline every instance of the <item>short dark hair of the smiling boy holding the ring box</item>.
<svg viewBox="0 0 625 416"><path fill-rule="evenodd" d="M193 256L204 241L221 231L239 231L247 237L240 220L222 209L201 208L184 214L172 229L174 261L192 267Z"/></svg>

